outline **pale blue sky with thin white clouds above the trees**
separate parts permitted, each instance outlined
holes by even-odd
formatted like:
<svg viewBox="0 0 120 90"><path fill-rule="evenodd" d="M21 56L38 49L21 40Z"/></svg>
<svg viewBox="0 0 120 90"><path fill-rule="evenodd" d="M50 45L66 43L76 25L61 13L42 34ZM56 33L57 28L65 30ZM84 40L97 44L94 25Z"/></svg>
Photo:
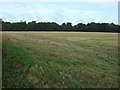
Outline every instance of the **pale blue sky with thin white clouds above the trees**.
<svg viewBox="0 0 120 90"><path fill-rule="evenodd" d="M71 22L73 25L90 22L118 23L117 1L24 1L0 1L0 18L11 22L19 22L20 20L56 22L58 24Z"/></svg>

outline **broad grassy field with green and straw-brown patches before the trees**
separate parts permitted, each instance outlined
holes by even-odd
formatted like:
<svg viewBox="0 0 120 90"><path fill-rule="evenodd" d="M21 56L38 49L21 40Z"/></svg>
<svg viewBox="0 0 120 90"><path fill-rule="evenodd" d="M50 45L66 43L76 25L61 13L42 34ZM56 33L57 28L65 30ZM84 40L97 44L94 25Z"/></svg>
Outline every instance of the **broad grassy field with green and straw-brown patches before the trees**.
<svg viewBox="0 0 120 90"><path fill-rule="evenodd" d="M3 32L3 88L117 88L118 33Z"/></svg>

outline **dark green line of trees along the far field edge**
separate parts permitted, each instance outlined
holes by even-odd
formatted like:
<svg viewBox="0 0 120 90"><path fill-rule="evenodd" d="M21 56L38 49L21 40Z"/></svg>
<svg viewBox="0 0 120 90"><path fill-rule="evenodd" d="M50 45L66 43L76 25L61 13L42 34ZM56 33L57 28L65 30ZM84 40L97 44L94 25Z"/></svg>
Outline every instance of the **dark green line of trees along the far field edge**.
<svg viewBox="0 0 120 90"><path fill-rule="evenodd" d="M20 22L4 22L2 21L3 31L78 31L78 32L119 32L120 26L114 23L78 23L72 26L72 23L62 23L59 25L55 22L38 22L32 21L26 23Z"/></svg>

